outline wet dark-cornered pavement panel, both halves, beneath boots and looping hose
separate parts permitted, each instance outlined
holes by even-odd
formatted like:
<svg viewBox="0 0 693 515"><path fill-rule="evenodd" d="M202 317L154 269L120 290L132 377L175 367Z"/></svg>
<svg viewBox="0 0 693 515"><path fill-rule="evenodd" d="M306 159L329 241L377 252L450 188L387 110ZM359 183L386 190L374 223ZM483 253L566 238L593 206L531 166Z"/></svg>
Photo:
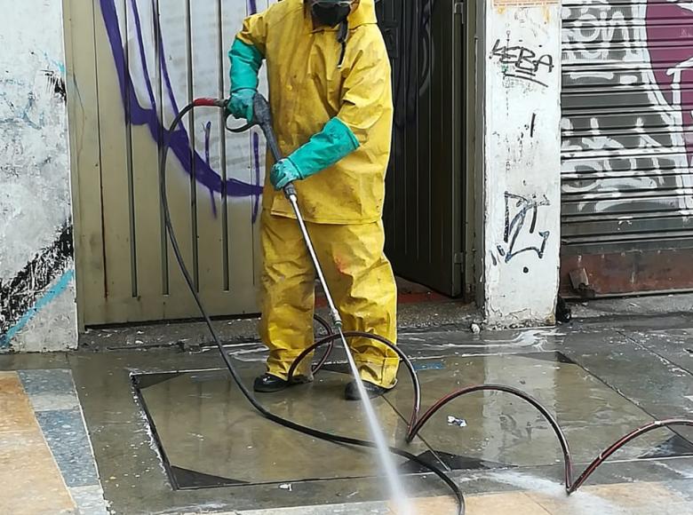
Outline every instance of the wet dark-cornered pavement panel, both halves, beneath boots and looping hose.
<svg viewBox="0 0 693 515"><path fill-rule="evenodd" d="M577 463L588 463L626 432L651 421L617 392L561 353L446 357L417 361L424 408L469 384L518 387L541 401L562 425ZM247 367L247 382L261 366ZM400 383L373 407L389 445L405 448L411 388L402 369ZM279 416L300 424L370 440L363 410L343 399L351 379L339 368L315 376L313 384L262 396ZM178 487L209 483L291 483L302 479L370 477L378 460L369 450L336 446L291 432L253 411L229 381L226 370L197 370L138 376L139 395L153 422L155 439ZM449 421L452 420L452 423ZM460 423L459 421L464 421ZM406 447L411 453L452 469L556 464L562 454L554 432L522 400L496 392L475 393L448 404ZM651 432L613 459L679 456L693 451L673 432ZM415 467L397 458L401 471ZM179 479L176 479L179 471ZM203 481L204 482L204 481ZM202 485L203 486L203 485Z"/></svg>

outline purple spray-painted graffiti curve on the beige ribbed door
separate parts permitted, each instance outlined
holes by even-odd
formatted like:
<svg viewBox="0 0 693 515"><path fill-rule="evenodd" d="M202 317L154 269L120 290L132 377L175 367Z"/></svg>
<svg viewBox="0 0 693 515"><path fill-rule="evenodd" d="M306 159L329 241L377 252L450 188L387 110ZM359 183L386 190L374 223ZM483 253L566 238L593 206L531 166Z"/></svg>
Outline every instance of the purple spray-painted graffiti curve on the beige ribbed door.
<svg viewBox="0 0 693 515"><path fill-rule="evenodd" d="M118 13L116 11L114 0L100 0L101 14L103 16L108 35L108 43L110 45L111 52L113 52L113 59L116 65L121 99L123 100L123 106L127 107L125 109L126 122L133 125L146 125L157 145L161 145L164 140L168 140L170 142L171 152L179 160L183 170L186 170L188 174L192 174L193 170L195 170L195 179L199 184L209 189L212 196L216 193L227 194L228 196L232 197L254 197L254 222L257 218L257 213L259 210L259 196L262 194L262 186L259 185L259 159L256 157L253 163L254 167L257 168L257 170L255 170L255 178L258 182L255 184L249 184L235 178L228 178L226 184L224 184L220 174L211 168L209 161L198 152L193 150L193 145L191 144L190 137L188 136L183 123L180 123L179 127L171 132L169 132L167 128L163 126L163 123L161 120L159 120L159 116L157 114L154 88L152 86L151 79L149 78L150 75L147 69L144 38L142 36L136 0L131 0L131 6L135 21L135 30L137 33L137 44L143 67L142 71L145 77L145 86L147 88L147 96L149 97L150 107L143 107L139 103L134 84L132 83L130 70L125 64L125 47L123 45L123 39L120 33L120 21L118 20ZM155 20L155 23L155 32L158 34L159 48L162 49L162 52L159 52L159 66L161 67L163 86L165 87L165 91L169 97L173 111L178 113L178 103L173 95L171 77L164 59L165 52L163 52L164 47L161 36L162 31L159 27L158 20ZM253 147L256 145L259 146L259 141L254 141L253 143ZM214 206L214 202L212 202L212 205Z"/></svg>

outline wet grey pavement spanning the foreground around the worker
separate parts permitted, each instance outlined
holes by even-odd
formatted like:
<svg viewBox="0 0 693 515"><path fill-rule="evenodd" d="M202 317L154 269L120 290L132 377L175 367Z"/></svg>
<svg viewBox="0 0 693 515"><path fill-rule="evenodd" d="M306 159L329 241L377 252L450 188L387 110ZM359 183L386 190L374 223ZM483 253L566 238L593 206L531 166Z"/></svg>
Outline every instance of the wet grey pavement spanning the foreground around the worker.
<svg viewBox="0 0 693 515"><path fill-rule="evenodd" d="M693 418L689 315L602 317L481 335L446 329L451 328L408 329L400 337L418 368L423 407L468 384L521 388L564 428L576 471L641 424ZM120 338L114 335L113 341ZM52 448L55 465L45 462L53 485L60 483L56 471L63 477L68 495L56 497L56 503L63 503L64 512L92 512L86 504L77 507L74 495L69 503L72 488L94 487L96 472L90 471L91 455L84 454L85 439L75 431L71 438L60 438L60 428L74 426L82 412L113 513L389 512L370 451L315 441L260 418L229 382L216 351L200 342L192 353L174 346L0 356L0 370L20 371L11 373L13 384L23 384L26 395L36 399L30 404L36 424L20 430L27 431L27 441L40 441L29 438L30 432L40 431L49 447L51 440L64 442L62 449ZM116 341L114 347L120 344ZM243 341L229 345L228 351L251 384L262 370L262 346ZM360 405L341 399L348 380L343 369L340 353L335 353L313 384L260 400L299 423L364 438ZM79 403L64 394L47 397L52 395L46 388L50 383L40 387L41 378L51 373L55 384L67 384L66 372L74 378ZM28 379L32 374L34 386ZM9 380L6 373L2 377ZM693 512L691 428L659 429L633 441L568 499L554 433L521 400L495 392L454 400L407 446L403 439L410 405L411 387L402 370L394 392L376 403L386 435L391 444L449 470L468 497L468 513ZM60 413L42 415L45 408ZM0 410L5 472L16 469L19 458L10 453L8 439L3 440L3 428L9 426L2 419L17 410L5 405ZM455 512L439 479L403 459L398 464L419 512Z"/></svg>

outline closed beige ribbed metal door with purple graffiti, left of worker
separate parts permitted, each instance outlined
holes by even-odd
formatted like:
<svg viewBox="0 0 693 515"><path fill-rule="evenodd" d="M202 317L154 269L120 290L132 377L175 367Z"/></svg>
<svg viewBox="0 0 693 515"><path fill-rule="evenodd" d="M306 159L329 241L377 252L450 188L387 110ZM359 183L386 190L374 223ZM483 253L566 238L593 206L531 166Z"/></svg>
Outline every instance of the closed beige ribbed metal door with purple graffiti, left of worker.
<svg viewBox="0 0 693 515"><path fill-rule="evenodd" d="M71 0L68 49L84 325L197 317L163 229L159 145L179 108L228 91L227 49L255 0ZM73 85L73 84L71 84ZM167 186L187 265L211 314L255 311L257 133L204 108L171 133Z"/></svg>

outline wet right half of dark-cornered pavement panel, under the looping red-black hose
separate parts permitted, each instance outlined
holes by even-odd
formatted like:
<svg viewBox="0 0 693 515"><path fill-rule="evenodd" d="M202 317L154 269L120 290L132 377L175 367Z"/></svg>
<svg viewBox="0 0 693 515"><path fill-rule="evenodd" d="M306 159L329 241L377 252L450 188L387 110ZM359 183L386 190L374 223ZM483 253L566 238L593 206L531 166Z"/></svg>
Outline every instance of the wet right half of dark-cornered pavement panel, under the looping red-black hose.
<svg viewBox="0 0 693 515"><path fill-rule="evenodd" d="M426 366L430 363L431 366ZM424 409L443 395L470 384L506 384L530 393L554 414L578 463L589 463L604 448L652 418L562 353L465 356L417 361ZM411 389L404 371L386 399L409 416ZM450 424L464 420L466 425ZM486 463L536 466L562 462L546 420L524 401L500 392L453 400L420 432L434 451L474 456ZM683 456L689 441L669 430L634 440L613 459Z"/></svg>

